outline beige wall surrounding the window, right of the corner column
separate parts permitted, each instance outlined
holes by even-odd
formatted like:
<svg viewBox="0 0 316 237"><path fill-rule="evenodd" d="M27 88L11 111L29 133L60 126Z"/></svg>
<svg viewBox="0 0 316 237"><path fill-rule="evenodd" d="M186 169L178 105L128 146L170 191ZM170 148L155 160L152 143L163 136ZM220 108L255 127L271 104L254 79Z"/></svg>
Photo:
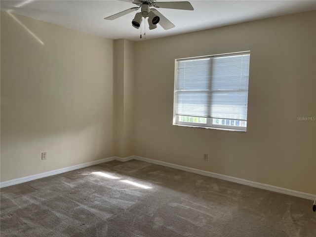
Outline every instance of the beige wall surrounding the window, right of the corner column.
<svg viewBox="0 0 316 237"><path fill-rule="evenodd" d="M173 126L174 60L245 50L247 132ZM135 155L316 194L316 121L297 120L316 117L315 11L139 41L136 58Z"/></svg>

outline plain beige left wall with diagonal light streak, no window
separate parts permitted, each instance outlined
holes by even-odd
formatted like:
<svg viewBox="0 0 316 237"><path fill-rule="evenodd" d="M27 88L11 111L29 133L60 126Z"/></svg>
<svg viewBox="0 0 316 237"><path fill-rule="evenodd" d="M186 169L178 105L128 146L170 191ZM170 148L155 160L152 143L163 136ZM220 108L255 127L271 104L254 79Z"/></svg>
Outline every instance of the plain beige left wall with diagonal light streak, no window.
<svg viewBox="0 0 316 237"><path fill-rule="evenodd" d="M1 182L112 157L113 96L113 40L1 12Z"/></svg>

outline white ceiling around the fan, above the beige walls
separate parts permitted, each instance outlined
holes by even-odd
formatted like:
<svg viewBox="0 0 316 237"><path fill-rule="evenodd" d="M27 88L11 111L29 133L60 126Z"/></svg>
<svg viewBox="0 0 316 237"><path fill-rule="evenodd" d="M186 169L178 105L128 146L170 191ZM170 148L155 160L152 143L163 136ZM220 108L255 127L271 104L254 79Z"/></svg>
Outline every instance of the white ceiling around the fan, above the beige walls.
<svg viewBox="0 0 316 237"><path fill-rule="evenodd" d="M189 1L194 7L194 11L159 8L159 11L176 27L165 31L161 26L158 26L154 30L149 30L148 24L146 24L146 39L316 9L316 0ZM1 0L0 4L1 10L9 10L12 13L88 34L109 39L140 40L140 29L137 30L131 25L136 12L113 21L104 20L104 17L135 7L136 5L131 2L121 0ZM143 33L144 22L142 23Z"/></svg>

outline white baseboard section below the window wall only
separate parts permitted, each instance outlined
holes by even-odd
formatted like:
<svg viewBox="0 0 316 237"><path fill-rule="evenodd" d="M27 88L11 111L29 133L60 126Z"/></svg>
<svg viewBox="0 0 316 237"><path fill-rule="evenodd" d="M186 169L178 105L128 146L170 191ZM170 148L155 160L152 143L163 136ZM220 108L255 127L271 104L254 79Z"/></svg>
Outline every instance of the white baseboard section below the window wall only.
<svg viewBox="0 0 316 237"><path fill-rule="evenodd" d="M245 179L239 179L239 178L231 177L228 175L217 174L217 173L204 171L204 170L200 170L200 169L194 169L194 168L181 166L178 164L172 164L172 163L159 161L159 160L155 160L155 159L138 157L138 156L134 156L134 159L146 161L149 163L158 164L158 165L162 165L162 166L166 166L166 167L170 167L170 168L189 171L192 173L205 175L205 176L209 176L209 177L213 177L213 178L217 178L217 179L227 180L227 181L231 181L231 182L238 183L238 184L248 185L248 186L259 188L259 189L269 190L269 191L273 191L276 193L287 194L287 195L291 195L291 196L295 196L295 197L302 197L302 198L306 198L306 199L310 199L310 200L314 200L316 198L316 195L313 195L313 194L302 193L302 192L298 192L298 191L294 191L294 190L284 189L284 188L280 188L280 187L276 187L276 186L272 186L272 185L268 185L268 184L257 183L257 182L253 182L253 181L249 181L249 180L245 180Z"/></svg>

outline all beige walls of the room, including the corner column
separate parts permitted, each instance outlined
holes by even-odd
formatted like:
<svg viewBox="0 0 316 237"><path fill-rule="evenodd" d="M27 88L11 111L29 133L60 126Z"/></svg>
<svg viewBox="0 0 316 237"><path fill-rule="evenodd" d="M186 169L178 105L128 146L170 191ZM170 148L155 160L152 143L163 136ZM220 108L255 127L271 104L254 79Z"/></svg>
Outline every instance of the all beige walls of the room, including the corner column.
<svg viewBox="0 0 316 237"><path fill-rule="evenodd" d="M44 44L1 14L1 182L137 155L316 194L315 11L138 42L16 18ZM244 50L247 132L173 126L174 59Z"/></svg>

